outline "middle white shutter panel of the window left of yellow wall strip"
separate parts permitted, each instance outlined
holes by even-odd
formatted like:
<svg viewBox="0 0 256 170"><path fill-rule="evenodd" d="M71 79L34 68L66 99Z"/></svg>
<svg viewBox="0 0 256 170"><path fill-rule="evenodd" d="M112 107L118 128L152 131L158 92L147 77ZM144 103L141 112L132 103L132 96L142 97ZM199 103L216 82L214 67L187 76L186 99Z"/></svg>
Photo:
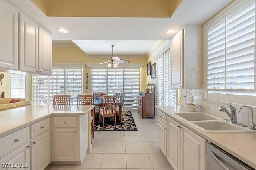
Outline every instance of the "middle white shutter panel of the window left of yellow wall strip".
<svg viewBox="0 0 256 170"><path fill-rule="evenodd" d="M52 69L49 76L49 104L52 104L54 95L65 94L65 69Z"/></svg>

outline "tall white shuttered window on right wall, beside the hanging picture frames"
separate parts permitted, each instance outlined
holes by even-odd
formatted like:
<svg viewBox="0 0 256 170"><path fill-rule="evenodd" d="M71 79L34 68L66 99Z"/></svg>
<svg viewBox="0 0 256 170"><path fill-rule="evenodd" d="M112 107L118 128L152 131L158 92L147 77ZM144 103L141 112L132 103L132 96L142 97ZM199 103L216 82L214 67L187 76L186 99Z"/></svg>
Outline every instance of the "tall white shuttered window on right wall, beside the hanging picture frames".
<svg viewBox="0 0 256 170"><path fill-rule="evenodd" d="M176 89L170 88L170 48L156 58L156 105L176 105Z"/></svg>

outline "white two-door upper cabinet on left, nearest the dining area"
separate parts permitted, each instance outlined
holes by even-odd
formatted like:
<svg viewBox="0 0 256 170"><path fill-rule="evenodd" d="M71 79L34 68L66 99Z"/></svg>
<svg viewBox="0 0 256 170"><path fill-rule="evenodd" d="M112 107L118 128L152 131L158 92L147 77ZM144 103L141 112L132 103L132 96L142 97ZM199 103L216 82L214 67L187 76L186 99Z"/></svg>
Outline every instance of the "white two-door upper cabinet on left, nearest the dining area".
<svg viewBox="0 0 256 170"><path fill-rule="evenodd" d="M24 14L20 14L19 69L51 75L52 35Z"/></svg>

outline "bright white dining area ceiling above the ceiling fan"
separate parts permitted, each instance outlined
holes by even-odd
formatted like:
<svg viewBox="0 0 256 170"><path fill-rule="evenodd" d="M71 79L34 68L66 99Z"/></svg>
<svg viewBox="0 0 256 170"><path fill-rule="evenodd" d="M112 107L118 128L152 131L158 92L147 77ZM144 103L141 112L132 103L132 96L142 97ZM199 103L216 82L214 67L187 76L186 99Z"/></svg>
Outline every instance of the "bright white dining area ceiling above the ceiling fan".
<svg viewBox="0 0 256 170"><path fill-rule="evenodd" d="M73 40L88 55L147 55L158 41L149 40ZM99 48L100 47L100 48Z"/></svg>

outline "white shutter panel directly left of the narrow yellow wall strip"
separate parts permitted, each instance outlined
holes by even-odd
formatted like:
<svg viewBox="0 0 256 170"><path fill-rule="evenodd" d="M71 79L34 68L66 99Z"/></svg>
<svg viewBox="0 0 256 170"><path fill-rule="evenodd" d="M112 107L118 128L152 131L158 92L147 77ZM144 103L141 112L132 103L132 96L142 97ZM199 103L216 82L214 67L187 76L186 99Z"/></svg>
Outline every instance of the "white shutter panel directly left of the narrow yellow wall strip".
<svg viewBox="0 0 256 170"><path fill-rule="evenodd" d="M66 69L66 95L71 95L71 105L76 105L77 95L82 94L82 69Z"/></svg>

